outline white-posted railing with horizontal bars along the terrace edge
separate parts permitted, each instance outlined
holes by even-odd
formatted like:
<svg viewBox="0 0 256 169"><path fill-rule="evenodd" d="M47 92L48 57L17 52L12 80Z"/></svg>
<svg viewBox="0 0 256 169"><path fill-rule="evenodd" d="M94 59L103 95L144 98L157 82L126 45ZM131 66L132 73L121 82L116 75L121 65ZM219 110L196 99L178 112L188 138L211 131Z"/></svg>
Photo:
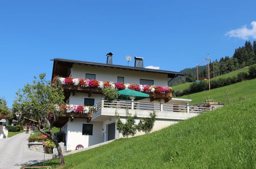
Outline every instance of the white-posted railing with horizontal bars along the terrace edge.
<svg viewBox="0 0 256 169"><path fill-rule="evenodd" d="M190 105L178 105L178 104L163 104L162 102L157 104L153 102L136 102L136 101L109 101L102 99L93 108L93 112L97 112L101 108L115 108L115 109L131 109L131 110L149 110L149 111L167 111L178 113L204 113L211 111L212 108L195 107Z"/></svg>

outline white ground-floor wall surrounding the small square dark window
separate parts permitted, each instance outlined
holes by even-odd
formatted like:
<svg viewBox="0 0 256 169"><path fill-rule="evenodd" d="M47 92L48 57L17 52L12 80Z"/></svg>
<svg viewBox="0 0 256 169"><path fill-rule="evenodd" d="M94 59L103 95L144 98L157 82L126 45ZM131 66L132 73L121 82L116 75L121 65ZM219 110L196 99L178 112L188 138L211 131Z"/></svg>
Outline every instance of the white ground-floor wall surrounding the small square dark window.
<svg viewBox="0 0 256 169"><path fill-rule="evenodd" d="M82 135L83 124L93 124L92 135ZM89 122L87 119L74 118L67 123L67 151L75 150L76 145L82 144L84 147L104 142L105 138L103 135L102 122Z"/></svg>

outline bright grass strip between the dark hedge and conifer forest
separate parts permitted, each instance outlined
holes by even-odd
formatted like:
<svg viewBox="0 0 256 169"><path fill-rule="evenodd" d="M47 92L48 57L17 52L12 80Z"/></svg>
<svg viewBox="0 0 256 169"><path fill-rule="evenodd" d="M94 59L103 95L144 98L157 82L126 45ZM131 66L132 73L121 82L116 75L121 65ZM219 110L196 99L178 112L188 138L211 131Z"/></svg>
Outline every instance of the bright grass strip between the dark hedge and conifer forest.
<svg viewBox="0 0 256 169"><path fill-rule="evenodd" d="M240 69L240 70L237 70L237 71L229 72L229 73L227 73L227 74L224 74L224 75L221 75L221 76L212 78L212 80L216 80L216 79L219 79L219 78L234 77L234 76L237 76L238 73L240 73L240 72L246 72L246 73L248 73L248 71L249 71L249 67L246 67L246 68L243 68L243 69ZM188 89L188 88L189 88L189 85L190 85L191 83L192 83L192 82L182 83L182 84L180 84L180 85L172 86L171 88L172 88L174 91L176 91L176 90L183 91L184 89Z"/></svg>

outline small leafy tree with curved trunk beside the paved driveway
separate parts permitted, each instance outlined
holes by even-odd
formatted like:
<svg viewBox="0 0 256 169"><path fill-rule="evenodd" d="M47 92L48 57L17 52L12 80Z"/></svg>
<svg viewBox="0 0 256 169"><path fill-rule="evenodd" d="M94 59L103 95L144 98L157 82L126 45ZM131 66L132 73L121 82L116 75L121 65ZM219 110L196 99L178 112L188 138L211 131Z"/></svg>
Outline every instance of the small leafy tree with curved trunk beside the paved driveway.
<svg viewBox="0 0 256 169"><path fill-rule="evenodd" d="M65 97L63 89L51 87L51 82L47 81L45 76L46 74L40 74L38 78L34 77L32 85L27 83L24 89L18 90L13 107L24 116L38 121L37 130L54 142L58 151L59 164L65 165L61 146L52 131L54 120L63 113L56 105L64 104ZM44 122L48 124L50 134L40 128Z"/></svg>

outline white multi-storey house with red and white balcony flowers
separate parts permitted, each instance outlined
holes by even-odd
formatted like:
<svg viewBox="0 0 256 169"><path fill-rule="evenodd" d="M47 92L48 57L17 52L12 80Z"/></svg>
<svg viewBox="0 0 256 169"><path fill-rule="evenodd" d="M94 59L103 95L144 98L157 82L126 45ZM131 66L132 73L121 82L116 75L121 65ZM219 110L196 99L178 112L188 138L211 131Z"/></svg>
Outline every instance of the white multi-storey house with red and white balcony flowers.
<svg viewBox="0 0 256 169"><path fill-rule="evenodd" d="M116 129L115 111L125 120L125 109L140 118L156 112L152 131L194 117L209 109L190 107L190 99L173 98L168 78L184 76L185 73L144 68L143 58L135 57L133 66L113 65L112 56L107 63L53 59L52 81L58 78L63 85L66 113L58 118L55 126L65 133L67 150L77 150L97 143L123 137ZM95 85L96 84L96 85ZM132 85L139 84L139 85ZM136 88L149 94L142 100L104 100L102 88ZM85 105L85 107L83 106ZM89 110L88 106L92 108ZM137 132L135 135L144 133Z"/></svg>

